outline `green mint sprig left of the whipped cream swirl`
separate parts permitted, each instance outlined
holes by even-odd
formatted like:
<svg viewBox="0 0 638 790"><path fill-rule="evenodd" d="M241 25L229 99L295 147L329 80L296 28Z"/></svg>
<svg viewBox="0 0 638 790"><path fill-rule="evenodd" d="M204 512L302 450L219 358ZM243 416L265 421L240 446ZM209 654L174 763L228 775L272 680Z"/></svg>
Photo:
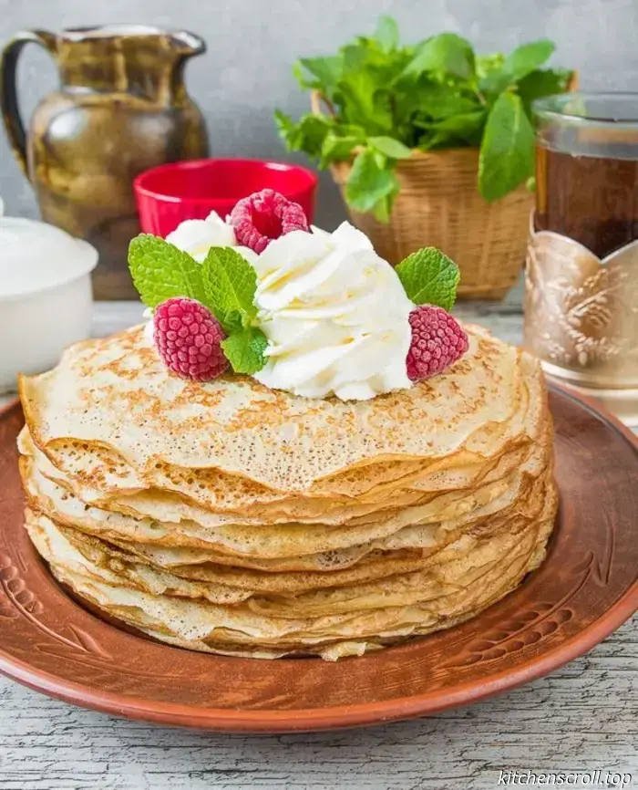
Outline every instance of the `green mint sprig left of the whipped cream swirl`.
<svg viewBox="0 0 638 790"><path fill-rule="evenodd" d="M129 269L147 307L173 296L197 299L208 307L227 335L221 348L236 373L256 373L266 364L268 340L253 325L257 276L232 247L212 247L198 264L159 236L139 234L129 245Z"/></svg>

